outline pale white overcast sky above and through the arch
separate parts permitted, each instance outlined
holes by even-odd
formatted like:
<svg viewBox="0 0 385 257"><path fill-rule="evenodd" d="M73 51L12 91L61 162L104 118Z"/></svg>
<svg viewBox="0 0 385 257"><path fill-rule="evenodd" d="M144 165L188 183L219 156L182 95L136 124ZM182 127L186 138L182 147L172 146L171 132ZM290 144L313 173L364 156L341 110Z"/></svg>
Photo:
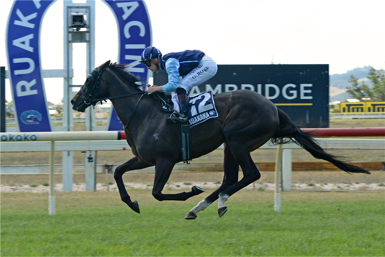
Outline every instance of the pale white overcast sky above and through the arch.
<svg viewBox="0 0 385 257"><path fill-rule="evenodd" d="M95 0L95 65L118 59L109 8ZM7 65L12 0L0 1L0 66ZM82 1L74 1L82 3ZM85 2L85 1L84 1ZM163 54L199 49L217 64L329 64L329 73L385 68L383 0L146 0L152 43ZM106 31L108 33L106 34ZM47 11L41 31L43 69L63 69L63 3ZM116 39L114 41L114 39ZM73 44L73 84L83 84L86 44ZM63 79L44 79L47 100L63 98ZM12 101L9 80L6 99Z"/></svg>

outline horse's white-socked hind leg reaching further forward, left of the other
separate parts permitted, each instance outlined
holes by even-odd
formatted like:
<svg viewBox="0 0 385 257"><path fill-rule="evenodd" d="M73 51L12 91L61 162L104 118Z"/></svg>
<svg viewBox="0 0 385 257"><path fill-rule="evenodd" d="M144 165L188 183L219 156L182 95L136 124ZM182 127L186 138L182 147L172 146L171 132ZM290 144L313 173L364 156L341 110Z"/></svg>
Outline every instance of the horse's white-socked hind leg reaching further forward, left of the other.
<svg viewBox="0 0 385 257"><path fill-rule="evenodd" d="M205 199L201 200L197 206L192 208L184 217L185 219L196 219L199 211L205 210L210 204L214 203L214 201L218 199L219 194L223 190L233 186L238 181L239 164L234 158L233 153L228 148L228 144L226 142L224 142L223 171L222 185Z"/></svg>

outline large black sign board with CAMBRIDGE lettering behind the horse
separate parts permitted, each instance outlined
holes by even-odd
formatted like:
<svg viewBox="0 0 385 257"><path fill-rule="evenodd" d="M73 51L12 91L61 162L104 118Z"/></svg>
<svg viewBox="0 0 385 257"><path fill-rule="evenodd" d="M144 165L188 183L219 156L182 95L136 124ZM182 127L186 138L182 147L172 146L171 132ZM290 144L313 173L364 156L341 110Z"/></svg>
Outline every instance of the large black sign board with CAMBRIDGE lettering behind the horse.
<svg viewBox="0 0 385 257"><path fill-rule="evenodd" d="M154 85L167 81L164 70L154 74ZM328 64L218 65L217 74L188 95L238 89L257 91L301 127L329 127Z"/></svg>

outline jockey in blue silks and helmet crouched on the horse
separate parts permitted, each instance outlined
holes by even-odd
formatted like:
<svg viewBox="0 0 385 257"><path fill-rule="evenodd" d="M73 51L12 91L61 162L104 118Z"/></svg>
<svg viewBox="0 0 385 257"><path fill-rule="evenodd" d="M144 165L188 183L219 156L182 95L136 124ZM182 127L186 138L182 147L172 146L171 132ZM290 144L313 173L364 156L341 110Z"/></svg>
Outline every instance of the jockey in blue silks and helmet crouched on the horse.
<svg viewBox="0 0 385 257"><path fill-rule="evenodd" d="M217 73L217 63L199 50L186 50L183 52L170 52L162 56L158 48L148 46L142 53L141 63L147 69L155 72L164 69L168 75L168 83L163 86L151 86L146 89L148 93L177 91L180 113L172 113L167 122L188 124L187 93Z"/></svg>

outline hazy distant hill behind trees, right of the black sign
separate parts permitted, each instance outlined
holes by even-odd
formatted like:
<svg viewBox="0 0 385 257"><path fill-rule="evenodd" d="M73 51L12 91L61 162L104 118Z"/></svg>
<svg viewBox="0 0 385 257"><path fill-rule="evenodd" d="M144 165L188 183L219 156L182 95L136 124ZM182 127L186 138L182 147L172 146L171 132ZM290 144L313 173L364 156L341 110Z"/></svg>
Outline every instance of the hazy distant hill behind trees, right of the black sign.
<svg viewBox="0 0 385 257"><path fill-rule="evenodd" d="M372 86L371 81L367 79L369 70L372 66L364 66L363 68L355 68L348 70L344 74L333 74L330 75L330 87L329 87L329 101L346 101L346 99L351 98L351 96L346 93L347 86L352 86L348 82L351 75L358 78L358 81L365 81L365 84Z"/></svg>

